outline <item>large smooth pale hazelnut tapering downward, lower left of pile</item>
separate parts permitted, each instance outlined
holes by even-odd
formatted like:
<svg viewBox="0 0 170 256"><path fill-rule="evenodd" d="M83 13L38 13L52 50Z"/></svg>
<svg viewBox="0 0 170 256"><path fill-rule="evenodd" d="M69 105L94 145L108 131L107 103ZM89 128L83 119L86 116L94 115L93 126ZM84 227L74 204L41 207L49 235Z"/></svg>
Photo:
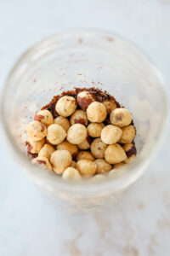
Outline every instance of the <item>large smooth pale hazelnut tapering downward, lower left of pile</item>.
<svg viewBox="0 0 170 256"><path fill-rule="evenodd" d="M71 154L67 150L56 150L50 158L54 172L57 174L62 174L67 167L71 166L71 161Z"/></svg>

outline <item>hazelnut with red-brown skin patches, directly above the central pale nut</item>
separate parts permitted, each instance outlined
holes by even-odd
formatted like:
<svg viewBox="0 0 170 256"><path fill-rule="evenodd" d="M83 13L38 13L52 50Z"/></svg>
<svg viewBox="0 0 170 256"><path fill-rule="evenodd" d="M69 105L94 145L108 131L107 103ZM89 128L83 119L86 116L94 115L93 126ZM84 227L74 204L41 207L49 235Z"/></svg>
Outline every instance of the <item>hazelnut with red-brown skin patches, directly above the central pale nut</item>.
<svg viewBox="0 0 170 256"><path fill-rule="evenodd" d="M74 125L74 124L82 124L85 126L88 125L88 116L86 111L82 109L78 109L71 114L71 125Z"/></svg>

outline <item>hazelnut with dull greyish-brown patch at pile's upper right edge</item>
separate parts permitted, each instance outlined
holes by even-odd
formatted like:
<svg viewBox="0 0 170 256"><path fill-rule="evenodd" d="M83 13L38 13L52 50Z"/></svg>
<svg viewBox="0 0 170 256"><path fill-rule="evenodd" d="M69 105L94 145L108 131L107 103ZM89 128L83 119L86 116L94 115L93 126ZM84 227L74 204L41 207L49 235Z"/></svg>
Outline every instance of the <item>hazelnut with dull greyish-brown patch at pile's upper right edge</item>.
<svg viewBox="0 0 170 256"><path fill-rule="evenodd" d="M110 115L111 124L119 127L130 125L132 122L132 115L127 108L116 108Z"/></svg>

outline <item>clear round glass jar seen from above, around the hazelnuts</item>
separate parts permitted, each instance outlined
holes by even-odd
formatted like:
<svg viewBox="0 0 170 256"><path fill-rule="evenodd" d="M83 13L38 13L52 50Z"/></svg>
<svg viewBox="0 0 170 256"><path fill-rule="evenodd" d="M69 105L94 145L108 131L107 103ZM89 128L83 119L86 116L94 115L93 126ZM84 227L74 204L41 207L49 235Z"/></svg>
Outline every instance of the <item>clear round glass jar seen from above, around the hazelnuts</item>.
<svg viewBox="0 0 170 256"><path fill-rule="evenodd" d="M122 176L66 182L28 160L26 125L54 95L74 87L107 90L133 113L138 154ZM60 207L88 212L115 199L144 172L163 134L166 102L160 73L133 44L109 32L74 30L46 38L21 56L4 86L1 114L22 169Z"/></svg>

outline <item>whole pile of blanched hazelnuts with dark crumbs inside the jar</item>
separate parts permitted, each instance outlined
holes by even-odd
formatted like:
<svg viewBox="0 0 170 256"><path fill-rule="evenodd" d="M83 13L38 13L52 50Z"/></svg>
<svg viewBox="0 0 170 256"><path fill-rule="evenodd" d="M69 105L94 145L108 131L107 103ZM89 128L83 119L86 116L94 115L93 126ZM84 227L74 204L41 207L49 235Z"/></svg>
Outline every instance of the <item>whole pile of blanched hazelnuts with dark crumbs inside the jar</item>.
<svg viewBox="0 0 170 256"><path fill-rule="evenodd" d="M99 89L54 96L36 113L26 133L32 163L63 179L99 179L136 155L131 113Z"/></svg>

